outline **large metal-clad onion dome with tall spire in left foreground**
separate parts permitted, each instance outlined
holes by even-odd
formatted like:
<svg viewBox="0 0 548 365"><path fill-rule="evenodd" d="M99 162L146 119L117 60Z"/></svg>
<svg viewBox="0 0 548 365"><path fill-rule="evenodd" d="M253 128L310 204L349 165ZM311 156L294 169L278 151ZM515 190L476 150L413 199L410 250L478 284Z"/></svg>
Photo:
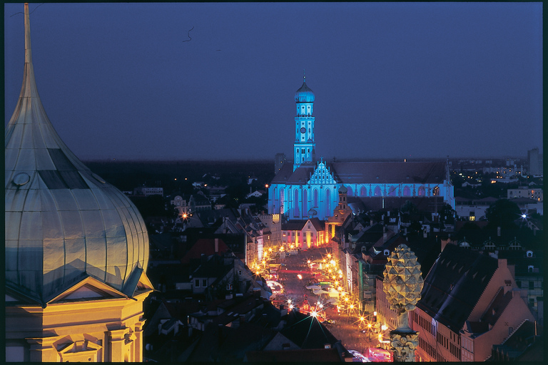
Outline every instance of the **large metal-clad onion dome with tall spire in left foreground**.
<svg viewBox="0 0 548 365"><path fill-rule="evenodd" d="M93 277L131 296L148 264L135 205L63 143L39 98L25 4L23 86L5 135L6 289L46 305Z"/></svg>

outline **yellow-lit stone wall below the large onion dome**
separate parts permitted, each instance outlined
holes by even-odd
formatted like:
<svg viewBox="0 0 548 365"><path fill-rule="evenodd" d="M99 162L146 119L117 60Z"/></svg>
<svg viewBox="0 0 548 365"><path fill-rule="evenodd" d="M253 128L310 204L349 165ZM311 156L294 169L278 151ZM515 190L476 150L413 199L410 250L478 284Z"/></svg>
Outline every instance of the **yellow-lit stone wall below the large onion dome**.
<svg viewBox="0 0 548 365"><path fill-rule="evenodd" d="M6 361L143 361L143 301L101 298L41 306L6 303Z"/></svg>

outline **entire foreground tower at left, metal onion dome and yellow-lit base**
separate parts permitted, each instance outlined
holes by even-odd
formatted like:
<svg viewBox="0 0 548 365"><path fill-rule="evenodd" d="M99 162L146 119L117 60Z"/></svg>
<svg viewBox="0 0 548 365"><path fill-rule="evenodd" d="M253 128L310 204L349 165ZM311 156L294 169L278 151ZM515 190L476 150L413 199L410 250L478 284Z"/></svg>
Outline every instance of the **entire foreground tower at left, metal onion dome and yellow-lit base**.
<svg viewBox="0 0 548 365"><path fill-rule="evenodd" d="M148 233L135 205L76 158L25 65L5 136L6 361L142 361Z"/></svg>

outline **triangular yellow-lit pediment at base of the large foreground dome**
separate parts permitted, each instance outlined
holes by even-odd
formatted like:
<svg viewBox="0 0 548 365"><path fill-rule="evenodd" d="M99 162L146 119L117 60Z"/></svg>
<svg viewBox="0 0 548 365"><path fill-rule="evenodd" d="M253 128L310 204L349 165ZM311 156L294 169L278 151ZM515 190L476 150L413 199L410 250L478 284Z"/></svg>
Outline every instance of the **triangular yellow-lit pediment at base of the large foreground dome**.
<svg viewBox="0 0 548 365"><path fill-rule="evenodd" d="M126 295L93 277L86 277L51 299L48 304L116 298L126 298Z"/></svg>

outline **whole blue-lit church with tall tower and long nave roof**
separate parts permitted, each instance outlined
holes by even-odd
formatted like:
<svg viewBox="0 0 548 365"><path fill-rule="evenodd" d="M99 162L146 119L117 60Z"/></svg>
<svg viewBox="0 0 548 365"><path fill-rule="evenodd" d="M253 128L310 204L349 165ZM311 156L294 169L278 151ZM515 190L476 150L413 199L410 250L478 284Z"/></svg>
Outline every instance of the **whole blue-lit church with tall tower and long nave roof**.
<svg viewBox="0 0 548 365"><path fill-rule="evenodd" d="M455 195L446 161L440 162L332 162L315 158L314 93L303 86L295 93L293 165L285 163L268 187L268 212L289 220L333 216L339 189L344 185L348 203L367 210L415 205L455 209ZM344 190L344 188L342 189Z"/></svg>

